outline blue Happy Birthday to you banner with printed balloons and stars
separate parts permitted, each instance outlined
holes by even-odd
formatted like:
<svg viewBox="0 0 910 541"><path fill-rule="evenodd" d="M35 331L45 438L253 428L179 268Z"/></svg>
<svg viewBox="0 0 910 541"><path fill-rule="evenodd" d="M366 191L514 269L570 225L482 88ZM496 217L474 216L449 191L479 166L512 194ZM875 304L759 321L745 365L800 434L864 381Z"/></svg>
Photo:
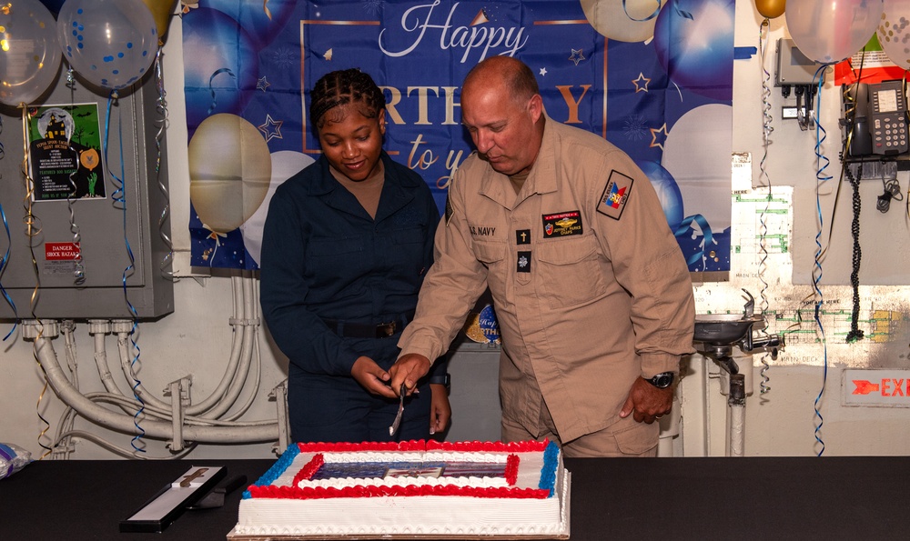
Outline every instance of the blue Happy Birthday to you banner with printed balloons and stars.
<svg viewBox="0 0 910 541"><path fill-rule="evenodd" d="M460 84L531 66L552 119L632 156L691 271L730 269L733 0L182 0L192 265L258 269L275 187L319 156L309 90L359 67L384 148L440 206L470 154Z"/></svg>

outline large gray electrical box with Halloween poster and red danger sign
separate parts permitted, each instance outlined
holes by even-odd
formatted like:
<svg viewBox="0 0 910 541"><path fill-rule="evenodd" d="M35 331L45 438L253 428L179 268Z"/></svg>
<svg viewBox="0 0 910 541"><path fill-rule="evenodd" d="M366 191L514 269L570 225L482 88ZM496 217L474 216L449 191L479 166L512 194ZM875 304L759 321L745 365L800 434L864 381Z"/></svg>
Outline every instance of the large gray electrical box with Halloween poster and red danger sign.
<svg viewBox="0 0 910 541"><path fill-rule="evenodd" d="M174 311L169 220L159 225L169 200L156 83L148 75L109 105L79 77L67 86L62 69L53 90L26 108L27 123L23 109L0 105L0 205L10 236L0 229L0 258L9 250L0 286L15 304L0 296L0 320Z"/></svg>

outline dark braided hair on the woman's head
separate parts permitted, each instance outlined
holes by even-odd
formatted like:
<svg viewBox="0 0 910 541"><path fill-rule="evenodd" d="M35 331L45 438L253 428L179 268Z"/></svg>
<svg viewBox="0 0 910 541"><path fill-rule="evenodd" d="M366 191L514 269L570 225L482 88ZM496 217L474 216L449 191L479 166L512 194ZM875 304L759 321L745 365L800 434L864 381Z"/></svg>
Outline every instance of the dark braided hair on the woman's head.
<svg viewBox="0 0 910 541"><path fill-rule="evenodd" d="M309 93L309 118L318 129L323 116L339 105L358 104L361 115L376 118L386 106L386 96L372 77L353 67L323 75Z"/></svg>

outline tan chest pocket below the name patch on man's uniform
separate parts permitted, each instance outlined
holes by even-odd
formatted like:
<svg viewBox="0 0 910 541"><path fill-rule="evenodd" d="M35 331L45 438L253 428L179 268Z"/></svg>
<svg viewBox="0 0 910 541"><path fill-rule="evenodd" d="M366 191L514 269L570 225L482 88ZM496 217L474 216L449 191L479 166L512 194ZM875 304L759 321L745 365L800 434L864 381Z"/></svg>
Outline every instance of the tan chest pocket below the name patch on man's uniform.
<svg viewBox="0 0 910 541"><path fill-rule="evenodd" d="M568 237L536 247L541 292L551 308L576 306L607 292L593 235Z"/></svg>

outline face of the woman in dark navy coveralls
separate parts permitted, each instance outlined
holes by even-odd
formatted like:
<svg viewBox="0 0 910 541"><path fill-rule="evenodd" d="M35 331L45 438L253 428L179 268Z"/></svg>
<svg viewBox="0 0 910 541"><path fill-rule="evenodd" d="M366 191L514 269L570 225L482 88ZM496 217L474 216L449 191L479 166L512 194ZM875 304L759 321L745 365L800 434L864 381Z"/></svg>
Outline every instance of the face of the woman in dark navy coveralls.
<svg viewBox="0 0 910 541"><path fill-rule="evenodd" d="M379 168L382 135L386 133L386 111L367 118L358 104L336 107L326 112L319 128L319 144L329 164L354 182L366 180Z"/></svg>

